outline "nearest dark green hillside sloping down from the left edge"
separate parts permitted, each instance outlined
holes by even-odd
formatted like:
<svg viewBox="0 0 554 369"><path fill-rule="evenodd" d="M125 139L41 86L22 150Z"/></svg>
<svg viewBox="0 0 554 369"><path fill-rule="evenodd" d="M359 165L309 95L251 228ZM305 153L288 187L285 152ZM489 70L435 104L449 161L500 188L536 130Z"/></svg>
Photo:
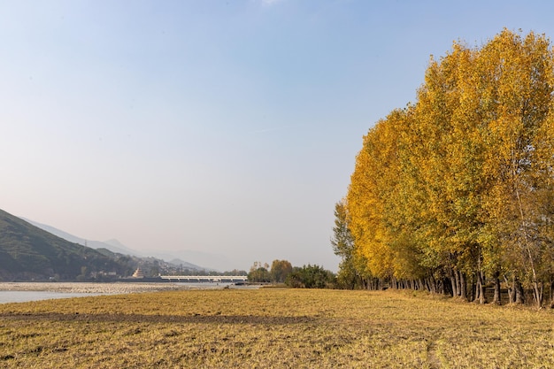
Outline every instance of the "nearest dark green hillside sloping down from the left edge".
<svg viewBox="0 0 554 369"><path fill-rule="evenodd" d="M74 280L127 275L129 265L97 250L65 241L0 210L0 281Z"/></svg>

